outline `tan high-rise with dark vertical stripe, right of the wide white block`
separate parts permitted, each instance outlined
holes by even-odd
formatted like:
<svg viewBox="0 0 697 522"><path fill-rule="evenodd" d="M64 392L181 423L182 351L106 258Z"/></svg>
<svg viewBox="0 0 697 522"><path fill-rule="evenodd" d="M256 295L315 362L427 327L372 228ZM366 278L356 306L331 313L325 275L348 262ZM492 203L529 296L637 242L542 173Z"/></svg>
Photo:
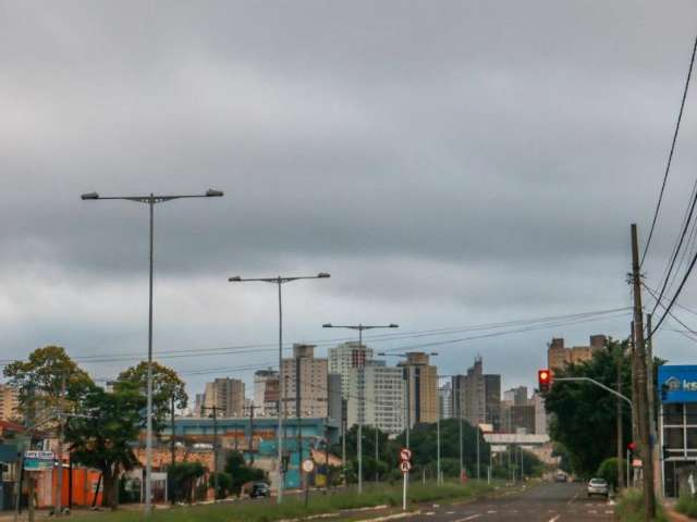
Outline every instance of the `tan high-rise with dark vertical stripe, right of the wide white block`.
<svg viewBox="0 0 697 522"><path fill-rule="evenodd" d="M423 351L406 353L399 364L406 372L408 420L411 425L431 423L438 419L438 369L429 364Z"/></svg>

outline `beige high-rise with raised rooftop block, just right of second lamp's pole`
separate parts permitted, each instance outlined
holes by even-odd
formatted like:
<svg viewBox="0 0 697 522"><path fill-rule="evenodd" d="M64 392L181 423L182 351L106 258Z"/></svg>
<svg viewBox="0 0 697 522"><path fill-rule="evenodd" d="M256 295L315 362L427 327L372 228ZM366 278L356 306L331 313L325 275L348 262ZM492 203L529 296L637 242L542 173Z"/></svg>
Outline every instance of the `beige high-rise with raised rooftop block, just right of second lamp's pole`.
<svg viewBox="0 0 697 522"><path fill-rule="evenodd" d="M297 417L299 402L299 417L327 417L329 395L327 359L315 358L314 345L293 345L293 358L283 359L282 368L288 415Z"/></svg>

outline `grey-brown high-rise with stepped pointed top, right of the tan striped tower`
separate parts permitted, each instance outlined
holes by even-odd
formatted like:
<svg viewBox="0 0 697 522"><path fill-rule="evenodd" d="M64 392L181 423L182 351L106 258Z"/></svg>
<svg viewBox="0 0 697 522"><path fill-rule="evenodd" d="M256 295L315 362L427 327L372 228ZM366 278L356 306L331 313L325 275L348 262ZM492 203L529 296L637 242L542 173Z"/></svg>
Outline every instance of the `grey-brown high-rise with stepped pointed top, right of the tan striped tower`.
<svg viewBox="0 0 697 522"><path fill-rule="evenodd" d="M501 428L501 375L485 374L480 356L466 375L454 375L451 383L454 417L466 419L473 426L491 424L494 431Z"/></svg>

